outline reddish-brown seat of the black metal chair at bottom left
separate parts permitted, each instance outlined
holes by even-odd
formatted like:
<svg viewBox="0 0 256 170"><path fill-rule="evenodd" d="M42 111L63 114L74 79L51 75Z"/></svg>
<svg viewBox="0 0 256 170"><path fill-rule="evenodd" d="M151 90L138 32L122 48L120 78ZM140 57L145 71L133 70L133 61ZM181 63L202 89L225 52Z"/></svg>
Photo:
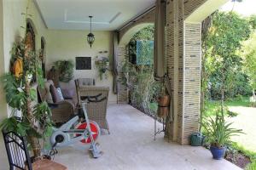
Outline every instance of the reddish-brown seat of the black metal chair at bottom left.
<svg viewBox="0 0 256 170"><path fill-rule="evenodd" d="M67 170L67 167L55 161L43 159L43 160L35 161L32 164L32 169L34 170Z"/></svg>

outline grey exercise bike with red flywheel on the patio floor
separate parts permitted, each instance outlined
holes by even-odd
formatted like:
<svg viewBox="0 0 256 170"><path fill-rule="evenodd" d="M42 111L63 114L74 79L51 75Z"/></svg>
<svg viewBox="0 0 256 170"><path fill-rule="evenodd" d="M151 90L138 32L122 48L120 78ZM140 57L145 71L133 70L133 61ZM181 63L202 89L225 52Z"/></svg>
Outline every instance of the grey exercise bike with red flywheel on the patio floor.
<svg viewBox="0 0 256 170"><path fill-rule="evenodd" d="M98 137L101 133L100 127L96 122L89 120L86 107L85 107L85 105L87 105L87 103L89 102L100 102L106 99L106 98L97 99L97 97L99 97L100 95L102 94L99 94L97 96L85 96L84 100L81 101L82 111L84 112L84 121L87 123L87 126L85 127L85 129L77 129L77 128L73 129L73 127L76 127L77 125L79 125L79 118L80 118L79 115L74 116L72 119L70 119L68 122L63 124L61 127L54 128L54 133L50 138L53 148L64 147L70 144L74 144L76 142L86 141L86 139L89 138L87 142L88 141L90 142L89 150L91 151L92 156L94 158L102 156L102 152L98 150L97 148L98 144L96 144L95 142L96 137ZM95 98L95 99L92 100L91 98ZM96 137L93 136L94 134L92 133L90 126L94 126L94 128L96 128L96 131L97 131Z"/></svg>

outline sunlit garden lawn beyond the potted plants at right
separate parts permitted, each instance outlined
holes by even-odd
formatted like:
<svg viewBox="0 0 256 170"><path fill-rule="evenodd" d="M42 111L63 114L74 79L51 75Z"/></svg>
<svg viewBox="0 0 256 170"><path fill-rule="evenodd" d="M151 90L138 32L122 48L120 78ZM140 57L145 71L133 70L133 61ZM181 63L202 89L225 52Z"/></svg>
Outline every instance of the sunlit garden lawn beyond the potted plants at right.
<svg viewBox="0 0 256 170"><path fill-rule="evenodd" d="M227 100L224 104L229 111L237 113L237 116L227 116L227 121L233 122L232 127L242 129L244 133L232 138L239 145L235 144L235 148L251 157L253 164L247 169L256 170L256 108L250 107L248 97ZM214 116L219 106L220 101L207 101L205 115Z"/></svg>

